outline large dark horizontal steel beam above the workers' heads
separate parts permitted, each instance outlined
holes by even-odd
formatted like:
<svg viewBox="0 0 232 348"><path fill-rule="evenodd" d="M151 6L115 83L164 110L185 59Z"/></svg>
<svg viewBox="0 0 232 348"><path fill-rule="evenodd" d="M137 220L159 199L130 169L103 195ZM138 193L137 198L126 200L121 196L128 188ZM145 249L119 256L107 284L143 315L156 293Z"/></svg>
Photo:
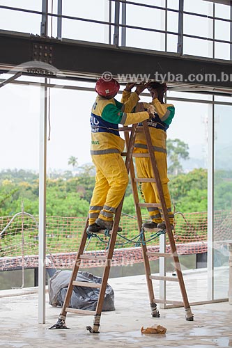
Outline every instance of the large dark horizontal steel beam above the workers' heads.
<svg viewBox="0 0 232 348"><path fill-rule="evenodd" d="M0 31L0 72L7 72L24 62L33 61L33 46L40 44L52 46L53 64L64 75L75 76L79 73L86 78L95 78L102 72L109 71L118 78L124 74L126 82L130 80L126 74L141 74L141 77L150 74L150 79L155 79L158 73L163 74L167 82L231 88L231 61L77 40L61 41L8 31ZM222 72L224 76L229 77L228 81L222 79ZM216 81L192 82L189 81L190 74L215 74ZM177 81L178 76L181 76L183 81Z"/></svg>

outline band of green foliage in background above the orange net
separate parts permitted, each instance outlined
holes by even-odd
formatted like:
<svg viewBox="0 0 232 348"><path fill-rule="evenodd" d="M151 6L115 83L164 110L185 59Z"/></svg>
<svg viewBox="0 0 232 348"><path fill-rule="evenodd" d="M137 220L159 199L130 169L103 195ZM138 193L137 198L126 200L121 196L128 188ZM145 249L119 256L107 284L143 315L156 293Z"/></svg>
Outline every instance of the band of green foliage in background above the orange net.
<svg viewBox="0 0 232 348"><path fill-rule="evenodd" d="M47 215L86 217L95 184L92 165L85 165L76 176L70 173L50 173L47 179ZM190 173L169 175L169 191L175 211L207 211L207 171L194 169ZM232 172L215 172L215 209L227 209L232 202ZM135 215L131 185L127 187L123 212ZM12 216L21 211L38 214L38 175L29 171L1 171L0 216ZM139 200L142 198L139 195ZM146 209L142 209L146 214Z"/></svg>

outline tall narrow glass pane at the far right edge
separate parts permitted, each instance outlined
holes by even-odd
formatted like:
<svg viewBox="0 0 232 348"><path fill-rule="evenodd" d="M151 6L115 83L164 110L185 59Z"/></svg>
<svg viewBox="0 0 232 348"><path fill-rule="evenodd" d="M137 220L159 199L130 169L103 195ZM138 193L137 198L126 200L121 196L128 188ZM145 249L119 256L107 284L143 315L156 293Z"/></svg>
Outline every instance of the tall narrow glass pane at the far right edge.
<svg viewBox="0 0 232 348"><path fill-rule="evenodd" d="M215 105L214 292L228 297L232 240L232 106Z"/></svg>

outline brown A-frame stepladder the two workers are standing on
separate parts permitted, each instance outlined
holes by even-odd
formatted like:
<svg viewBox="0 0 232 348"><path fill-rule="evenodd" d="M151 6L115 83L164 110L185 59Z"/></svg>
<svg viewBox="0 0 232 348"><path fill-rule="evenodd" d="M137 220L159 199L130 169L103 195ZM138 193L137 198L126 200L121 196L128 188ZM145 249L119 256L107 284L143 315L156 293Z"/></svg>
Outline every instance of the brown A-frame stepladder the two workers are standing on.
<svg viewBox="0 0 232 348"><path fill-rule="evenodd" d="M134 203L135 203L136 212L137 212L138 227L139 227L139 232L140 231L142 232L142 237L143 237L142 238L143 243L141 243L141 248L142 248L142 253L143 253L143 258L144 258L144 267L145 267L145 272L146 272L146 281L147 281L147 285L148 285L148 294L149 294L149 299L150 299L151 315L153 317L160 317L159 310L157 310L157 303L172 303L173 305L176 304L177 306L184 306L186 320L192 321L193 314L192 314L192 310L190 308L190 303L187 299L187 292L185 290L185 283L183 280L183 274L182 274L182 271L180 269L180 262L179 262L178 254L176 251L176 244L175 244L175 240L173 238L171 225L169 223L167 207L166 207L166 203L164 200L164 194L162 191L162 184L160 182L160 175L159 175L156 161L155 161L155 155L154 155L152 141L150 139L148 122L147 122L147 120L145 120L141 127L137 127L137 125L132 125L132 127L121 127L121 128L119 128L119 130L123 131L125 134L125 144L126 144L127 152L123 153L122 155L126 155L125 166L127 168L127 173L130 172L130 176L131 176L131 180L132 180L132 191L134 194ZM144 133L146 135L148 153L133 154L135 136L136 136L136 133L139 131L144 131ZM129 136L129 132L130 132L130 136ZM150 161L151 161L153 173L154 173L154 178L152 178L152 179L135 178L134 164L132 161L132 156L134 156L134 157L150 157ZM137 182L156 182L157 190L158 190L158 193L160 196L160 204L157 204L157 203L139 203L139 195L138 195L138 191L137 191ZM90 331L91 333L99 333L102 306L103 306L103 301L105 298L105 291L106 291L106 287L107 287L107 281L109 278L109 271L110 271L110 267L111 267L111 260L113 258L114 246L116 244L116 237L117 237L119 221L121 218L122 207L123 207L123 200L121 200L120 205L118 205L118 208L116 209L114 226L113 226L112 230L109 232L110 239L109 239L108 251L107 251L106 256L88 255L87 253L84 253L86 241L88 238L88 234L86 232L87 227L88 227L88 219L87 219L86 226L85 226L84 232L82 234L81 243L79 245L79 250L77 251L75 265L72 269L72 275L71 275L70 283L68 285L68 290L67 290L67 293L65 296L65 301L63 303L63 308L62 308L61 313L59 315L58 321L56 322L56 324L51 326L49 329L68 329L68 327L65 324L65 319L66 319L67 313L70 312L70 313L77 313L77 314L82 314L82 315L83 314L94 315L93 328L91 326L87 326L86 329L88 331ZM155 252L150 252L150 251L148 252L147 246L146 246L146 238L145 238L144 229L142 229L142 216L141 216L141 209L140 209L141 207L162 207L162 211L164 214L164 221L165 221L166 226L167 226L166 233L167 233L167 236L169 238L171 253L155 253ZM149 256L154 256L154 255L156 255L158 257L162 257L162 258L166 258L166 257L173 258L173 263L175 265L177 278L176 277L167 277L167 276L152 276L150 273ZM79 282L76 280L77 273L79 270L79 265L80 265L82 260L86 260L86 259L88 259L88 260L89 259L90 260L105 260L105 269L103 272L101 284ZM153 290L153 282L152 282L153 279L177 281L180 285L180 292L181 292L182 297L183 297L183 302L155 299L155 294L154 294L154 290ZM72 296L72 290L73 290L73 287L75 285L82 286L82 287L100 288L98 303L97 303L95 311L81 310L81 309L68 307L70 304L71 296Z"/></svg>

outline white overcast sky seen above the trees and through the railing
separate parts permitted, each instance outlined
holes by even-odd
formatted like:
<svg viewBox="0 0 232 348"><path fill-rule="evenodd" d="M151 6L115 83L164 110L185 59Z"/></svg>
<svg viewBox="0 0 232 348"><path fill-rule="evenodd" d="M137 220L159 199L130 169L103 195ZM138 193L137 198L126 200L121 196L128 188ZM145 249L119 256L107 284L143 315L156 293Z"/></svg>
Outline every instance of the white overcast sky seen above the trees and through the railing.
<svg viewBox="0 0 232 348"><path fill-rule="evenodd" d="M20 3L19 3L20 2ZM169 0L169 6L175 8L176 0ZM56 1L54 1L56 3ZM63 13L78 17L96 18L105 20L105 12L102 11L105 0L63 1ZM162 0L146 0L146 3L164 5ZM212 3L203 0L185 0L185 10L197 10L211 14ZM41 1L38 0L0 0L1 5L16 6L40 10ZM198 6L196 6L198 5ZM102 6L102 7L101 7ZM55 8L54 8L55 10ZM216 15L227 15L226 6L217 5ZM127 8L127 24L150 26L164 29L164 20L161 11L154 13L147 8ZM210 35L211 22L208 19L185 17L185 32L194 35ZM178 17L176 14L169 15L168 30L176 31ZM13 13L0 9L1 29L23 31L27 33L40 33L40 17L24 13ZM219 24L216 26L217 38L227 40L229 29ZM53 23L53 35L56 36L56 21ZM107 32L102 26L85 24L77 21L63 22L63 37L79 40L93 40L105 42ZM199 54L210 56L212 45L199 41L196 45L193 40L185 40L185 54ZM132 47L163 49L163 36L156 33L144 33L127 31L127 45ZM229 45L216 45L218 58L228 58ZM176 38L171 35L168 40L168 49L176 51ZM94 57L93 57L94 58ZM0 75L7 78L7 75ZM21 78L22 79L22 78ZM79 84L79 83L78 83ZM77 85L77 83L76 83ZM187 96L185 93L168 93L168 96ZM196 97L196 95L192 95ZM120 100L118 95L117 99ZM70 168L68 158L75 156L79 165L91 162L89 154L91 128L89 118L91 106L95 100L94 92L82 92L78 90L51 90L51 140L47 142L47 166L49 170ZM149 100L143 98L143 100ZM0 170L6 168L29 168L38 171L38 145L39 145L39 116L40 116L40 88L29 86L16 86L10 84L0 89L1 103L1 162ZM207 141L207 117L208 105L187 102L173 102L176 106L176 116L167 131L170 139L181 139L190 146L191 156L206 157ZM227 106L228 108L229 106ZM223 106L217 109L217 113L224 113ZM226 109L228 112L228 109ZM227 120L227 122L230 122ZM219 128L220 122L218 122ZM230 128L231 129L231 128ZM222 139L223 141L223 139ZM71 169L71 168L70 168Z"/></svg>

